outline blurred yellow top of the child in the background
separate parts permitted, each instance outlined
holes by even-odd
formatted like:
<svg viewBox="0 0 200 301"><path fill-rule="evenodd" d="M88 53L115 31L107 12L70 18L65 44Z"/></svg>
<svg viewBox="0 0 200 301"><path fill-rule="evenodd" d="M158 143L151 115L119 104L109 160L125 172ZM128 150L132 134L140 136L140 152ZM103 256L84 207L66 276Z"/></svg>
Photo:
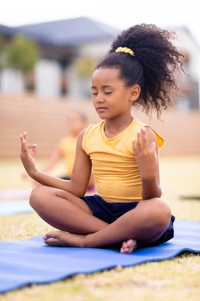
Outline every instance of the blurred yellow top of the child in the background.
<svg viewBox="0 0 200 301"><path fill-rule="evenodd" d="M77 137L66 136L60 140L59 149L64 159L65 176L71 177L73 164L75 160Z"/></svg>

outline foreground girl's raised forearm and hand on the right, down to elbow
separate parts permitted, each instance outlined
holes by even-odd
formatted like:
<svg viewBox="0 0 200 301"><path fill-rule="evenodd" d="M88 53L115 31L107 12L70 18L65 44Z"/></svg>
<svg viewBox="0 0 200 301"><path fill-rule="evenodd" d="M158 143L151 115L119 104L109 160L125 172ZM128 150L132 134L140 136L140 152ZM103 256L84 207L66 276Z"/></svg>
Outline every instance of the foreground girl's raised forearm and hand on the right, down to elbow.
<svg viewBox="0 0 200 301"><path fill-rule="evenodd" d="M140 174L143 200L160 198L158 145L150 127L143 127L137 133L137 144L133 141L133 150Z"/></svg>

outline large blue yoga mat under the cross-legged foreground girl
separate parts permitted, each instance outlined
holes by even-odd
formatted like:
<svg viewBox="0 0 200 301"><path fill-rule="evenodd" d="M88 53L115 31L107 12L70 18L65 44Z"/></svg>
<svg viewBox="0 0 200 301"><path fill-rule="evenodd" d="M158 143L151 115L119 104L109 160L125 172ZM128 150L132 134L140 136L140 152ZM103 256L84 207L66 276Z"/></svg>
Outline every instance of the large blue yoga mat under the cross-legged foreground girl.
<svg viewBox="0 0 200 301"><path fill-rule="evenodd" d="M157 247L136 249L131 254L113 249L51 247L43 244L41 236L0 241L0 292L118 265L161 261L186 250L200 253L200 222L176 220L174 230L172 240Z"/></svg>

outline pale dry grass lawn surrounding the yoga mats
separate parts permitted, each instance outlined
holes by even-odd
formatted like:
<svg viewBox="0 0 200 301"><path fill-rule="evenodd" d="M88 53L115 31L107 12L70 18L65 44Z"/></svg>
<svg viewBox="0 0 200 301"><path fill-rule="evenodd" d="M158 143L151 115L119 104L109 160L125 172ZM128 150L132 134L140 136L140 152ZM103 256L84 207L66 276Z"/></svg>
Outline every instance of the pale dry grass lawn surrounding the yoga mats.
<svg viewBox="0 0 200 301"><path fill-rule="evenodd" d="M42 161L38 162L42 165ZM3 180L0 189L28 188L23 183L19 161L0 163ZM61 165L54 174L61 172ZM162 158L160 179L164 199L178 219L200 220L200 202L180 200L180 195L200 195L200 157ZM52 173L52 174L53 174ZM2 177L1 177L2 178ZM35 213L0 217L0 240L19 240L53 230ZM50 263L46 263L50 264ZM26 300L115 300L138 301L199 300L200 255L184 253L171 260L105 270L45 285L31 285L0 295L3 301Z"/></svg>

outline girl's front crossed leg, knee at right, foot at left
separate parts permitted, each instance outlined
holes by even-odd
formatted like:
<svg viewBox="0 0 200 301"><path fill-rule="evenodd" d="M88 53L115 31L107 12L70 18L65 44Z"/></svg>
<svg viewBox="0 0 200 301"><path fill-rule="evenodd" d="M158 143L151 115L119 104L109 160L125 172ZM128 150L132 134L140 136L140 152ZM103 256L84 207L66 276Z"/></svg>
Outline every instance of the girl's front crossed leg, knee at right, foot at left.
<svg viewBox="0 0 200 301"><path fill-rule="evenodd" d="M161 199L154 198L140 202L115 222L95 233L73 235L62 231L48 232L43 238L49 245L73 247L102 247L129 240L156 241L167 229L171 212ZM48 238L52 238L48 240Z"/></svg>

